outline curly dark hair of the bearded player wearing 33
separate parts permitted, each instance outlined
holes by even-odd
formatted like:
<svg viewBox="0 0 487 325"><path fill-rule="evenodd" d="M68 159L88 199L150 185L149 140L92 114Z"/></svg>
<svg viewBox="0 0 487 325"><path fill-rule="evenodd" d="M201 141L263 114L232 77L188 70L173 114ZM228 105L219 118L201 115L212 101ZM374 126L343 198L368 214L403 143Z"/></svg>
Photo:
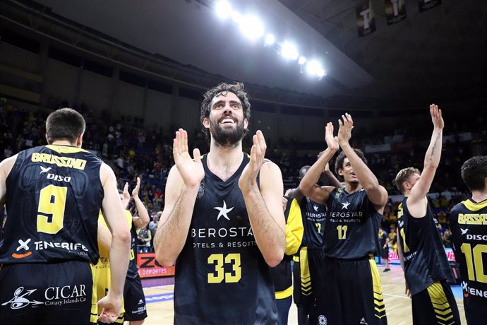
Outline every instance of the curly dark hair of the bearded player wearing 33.
<svg viewBox="0 0 487 325"><path fill-rule="evenodd" d="M203 119L210 116L211 102L217 95L227 95L227 93L234 93L242 103L242 110L244 110L244 119L249 120L251 117L251 103L248 102L248 95L245 91L244 83L220 83L216 87L207 90L203 94L203 102L200 108L200 123L203 124ZM203 126L203 132L207 138L210 138L210 131Z"/></svg>

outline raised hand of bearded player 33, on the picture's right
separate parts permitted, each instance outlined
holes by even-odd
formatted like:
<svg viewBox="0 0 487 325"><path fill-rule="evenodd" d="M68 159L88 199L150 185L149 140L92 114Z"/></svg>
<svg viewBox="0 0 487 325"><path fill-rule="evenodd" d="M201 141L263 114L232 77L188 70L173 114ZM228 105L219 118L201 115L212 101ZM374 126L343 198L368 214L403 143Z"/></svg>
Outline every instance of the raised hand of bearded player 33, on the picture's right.
<svg viewBox="0 0 487 325"><path fill-rule="evenodd" d="M265 150L267 149L262 131L257 131L252 140L251 161L248 162L239 179L239 187L242 192L249 191L257 185L257 175L264 163Z"/></svg>

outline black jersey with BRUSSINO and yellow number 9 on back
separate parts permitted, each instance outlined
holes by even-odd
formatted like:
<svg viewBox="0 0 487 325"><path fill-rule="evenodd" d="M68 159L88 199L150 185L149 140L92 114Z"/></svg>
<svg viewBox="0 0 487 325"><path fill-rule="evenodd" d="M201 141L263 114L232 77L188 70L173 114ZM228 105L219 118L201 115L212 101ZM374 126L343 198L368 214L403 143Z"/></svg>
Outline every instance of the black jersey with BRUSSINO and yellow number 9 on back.
<svg viewBox="0 0 487 325"><path fill-rule="evenodd" d="M1 264L98 261L102 160L73 146L18 153L6 179Z"/></svg>

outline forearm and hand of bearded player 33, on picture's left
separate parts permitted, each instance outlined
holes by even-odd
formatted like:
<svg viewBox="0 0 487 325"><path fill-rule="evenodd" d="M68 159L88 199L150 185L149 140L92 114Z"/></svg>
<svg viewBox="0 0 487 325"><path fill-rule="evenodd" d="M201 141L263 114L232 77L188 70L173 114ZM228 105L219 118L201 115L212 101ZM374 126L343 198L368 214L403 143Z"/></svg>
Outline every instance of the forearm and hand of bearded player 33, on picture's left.
<svg viewBox="0 0 487 325"><path fill-rule="evenodd" d="M173 266L184 247L200 182L205 177L200 150L193 150L193 160L184 129L176 131L172 153L175 165L167 177L166 202L154 238L156 258L163 266Z"/></svg>

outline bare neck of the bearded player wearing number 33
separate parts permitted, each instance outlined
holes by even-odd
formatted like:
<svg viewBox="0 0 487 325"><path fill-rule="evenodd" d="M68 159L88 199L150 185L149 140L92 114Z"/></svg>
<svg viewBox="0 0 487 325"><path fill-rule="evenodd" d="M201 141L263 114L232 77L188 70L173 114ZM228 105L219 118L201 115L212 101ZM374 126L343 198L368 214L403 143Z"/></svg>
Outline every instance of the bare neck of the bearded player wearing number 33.
<svg viewBox="0 0 487 325"><path fill-rule="evenodd" d="M239 169L243 158L244 153L240 143L233 148L210 146L206 161L211 172L225 181Z"/></svg>

